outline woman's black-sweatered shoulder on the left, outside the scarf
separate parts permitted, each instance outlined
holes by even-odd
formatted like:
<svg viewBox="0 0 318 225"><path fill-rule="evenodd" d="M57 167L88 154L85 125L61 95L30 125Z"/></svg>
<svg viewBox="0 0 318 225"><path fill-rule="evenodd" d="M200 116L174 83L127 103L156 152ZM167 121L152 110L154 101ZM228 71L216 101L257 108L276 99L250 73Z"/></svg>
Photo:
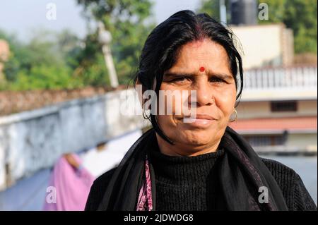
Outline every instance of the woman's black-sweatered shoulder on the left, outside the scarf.
<svg viewBox="0 0 318 225"><path fill-rule="evenodd" d="M107 185L110 183L110 179L112 178L115 169L116 168L105 172L93 182L86 202L86 211L95 211L98 209L98 205L100 205L100 201L102 200L102 197L104 197Z"/></svg>

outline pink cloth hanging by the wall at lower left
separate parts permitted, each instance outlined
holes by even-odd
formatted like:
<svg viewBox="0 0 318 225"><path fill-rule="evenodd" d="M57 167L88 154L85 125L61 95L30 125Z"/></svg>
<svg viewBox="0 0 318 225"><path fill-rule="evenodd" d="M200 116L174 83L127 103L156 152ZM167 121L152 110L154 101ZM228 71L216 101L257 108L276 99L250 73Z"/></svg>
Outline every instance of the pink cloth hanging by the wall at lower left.
<svg viewBox="0 0 318 225"><path fill-rule="evenodd" d="M72 154L78 164L81 159ZM76 169L66 161L64 157L59 158L54 165L49 186L56 190L55 202L47 202L47 193L43 210L46 211L82 211L85 208L90 187L95 178L83 167Z"/></svg>

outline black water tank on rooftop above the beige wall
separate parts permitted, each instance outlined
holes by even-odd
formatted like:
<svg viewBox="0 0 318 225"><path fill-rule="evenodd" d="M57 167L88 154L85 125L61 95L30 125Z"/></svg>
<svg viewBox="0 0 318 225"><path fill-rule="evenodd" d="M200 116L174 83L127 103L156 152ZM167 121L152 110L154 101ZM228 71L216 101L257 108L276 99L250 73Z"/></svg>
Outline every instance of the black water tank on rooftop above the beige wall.
<svg viewBox="0 0 318 225"><path fill-rule="evenodd" d="M257 1L256 0L231 0L231 24L256 25Z"/></svg>

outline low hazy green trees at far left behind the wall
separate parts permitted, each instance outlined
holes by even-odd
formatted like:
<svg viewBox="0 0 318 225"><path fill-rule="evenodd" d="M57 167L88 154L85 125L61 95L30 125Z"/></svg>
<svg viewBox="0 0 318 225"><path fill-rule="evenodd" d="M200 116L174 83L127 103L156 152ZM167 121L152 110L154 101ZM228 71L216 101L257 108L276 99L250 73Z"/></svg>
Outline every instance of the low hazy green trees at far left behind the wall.
<svg viewBox="0 0 318 225"><path fill-rule="evenodd" d="M66 49L59 45L61 36L40 30L25 44L14 35L0 32L11 51L4 63L6 82L1 84L1 90L64 89L79 85L65 60L74 47Z"/></svg>

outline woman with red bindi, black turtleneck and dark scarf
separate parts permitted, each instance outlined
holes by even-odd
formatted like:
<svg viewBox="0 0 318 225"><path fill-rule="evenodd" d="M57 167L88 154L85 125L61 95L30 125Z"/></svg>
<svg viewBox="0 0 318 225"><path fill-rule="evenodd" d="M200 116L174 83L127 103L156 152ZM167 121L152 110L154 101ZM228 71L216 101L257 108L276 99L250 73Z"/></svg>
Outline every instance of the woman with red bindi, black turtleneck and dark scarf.
<svg viewBox="0 0 318 225"><path fill-rule="evenodd" d="M295 171L259 158L228 127L242 92L242 59L232 33L216 20L180 11L158 25L135 83L157 94L196 91L186 102L196 114L189 122L189 114L176 113L176 101L157 103L172 114L151 105L153 128L94 182L86 210L317 209Z"/></svg>

